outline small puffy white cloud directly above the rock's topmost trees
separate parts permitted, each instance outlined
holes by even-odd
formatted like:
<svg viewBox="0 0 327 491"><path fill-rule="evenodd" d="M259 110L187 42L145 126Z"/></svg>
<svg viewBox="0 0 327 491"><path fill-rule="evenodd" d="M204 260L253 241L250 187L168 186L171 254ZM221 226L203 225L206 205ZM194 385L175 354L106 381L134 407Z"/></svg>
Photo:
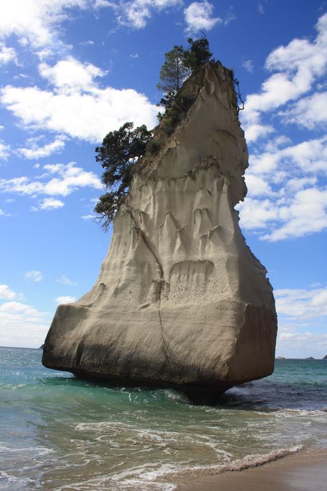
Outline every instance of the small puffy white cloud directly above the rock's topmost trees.
<svg viewBox="0 0 327 491"><path fill-rule="evenodd" d="M222 23L220 17L212 17L214 6L207 0L202 2L192 2L184 10L186 21L186 31L189 33L199 32L200 30L210 30L217 23Z"/></svg>

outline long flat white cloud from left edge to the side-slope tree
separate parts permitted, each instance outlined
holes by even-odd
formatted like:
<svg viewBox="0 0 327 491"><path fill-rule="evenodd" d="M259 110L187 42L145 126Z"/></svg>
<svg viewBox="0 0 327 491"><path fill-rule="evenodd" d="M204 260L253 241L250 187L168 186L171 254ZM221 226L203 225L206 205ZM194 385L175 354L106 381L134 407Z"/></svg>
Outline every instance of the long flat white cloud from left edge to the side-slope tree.
<svg viewBox="0 0 327 491"><path fill-rule="evenodd" d="M43 166L43 170L46 173L39 176L39 180L32 180L30 177L0 179L0 192L30 196L67 196L80 187L89 186L94 189L103 189L103 185L95 173L84 171L81 167L75 166L75 162L66 165L47 164Z"/></svg>

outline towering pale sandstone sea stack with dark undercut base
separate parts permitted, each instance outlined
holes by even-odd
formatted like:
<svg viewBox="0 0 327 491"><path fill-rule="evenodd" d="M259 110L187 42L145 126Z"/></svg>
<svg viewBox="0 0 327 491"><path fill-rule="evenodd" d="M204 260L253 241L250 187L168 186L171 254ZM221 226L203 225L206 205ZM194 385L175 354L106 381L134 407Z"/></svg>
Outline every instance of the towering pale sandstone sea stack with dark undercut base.
<svg viewBox="0 0 327 491"><path fill-rule="evenodd" d="M99 279L59 305L42 361L201 400L273 372L277 318L235 211L248 152L230 70L206 64L182 92L192 105L169 136L156 128L161 148L135 166Z"/></svg>

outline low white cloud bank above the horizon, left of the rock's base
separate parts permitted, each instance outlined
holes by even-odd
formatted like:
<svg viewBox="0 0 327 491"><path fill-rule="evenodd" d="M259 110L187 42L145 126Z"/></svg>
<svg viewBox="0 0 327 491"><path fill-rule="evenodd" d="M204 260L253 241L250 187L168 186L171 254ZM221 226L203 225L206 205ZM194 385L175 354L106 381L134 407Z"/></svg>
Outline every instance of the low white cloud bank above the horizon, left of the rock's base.
<svg viewBox="0 0 327 491"><path fill-rule="evenodd" d="M0 345L40 347L50 325L48 315L21 302L3 303L0 306Z"/></svg>

